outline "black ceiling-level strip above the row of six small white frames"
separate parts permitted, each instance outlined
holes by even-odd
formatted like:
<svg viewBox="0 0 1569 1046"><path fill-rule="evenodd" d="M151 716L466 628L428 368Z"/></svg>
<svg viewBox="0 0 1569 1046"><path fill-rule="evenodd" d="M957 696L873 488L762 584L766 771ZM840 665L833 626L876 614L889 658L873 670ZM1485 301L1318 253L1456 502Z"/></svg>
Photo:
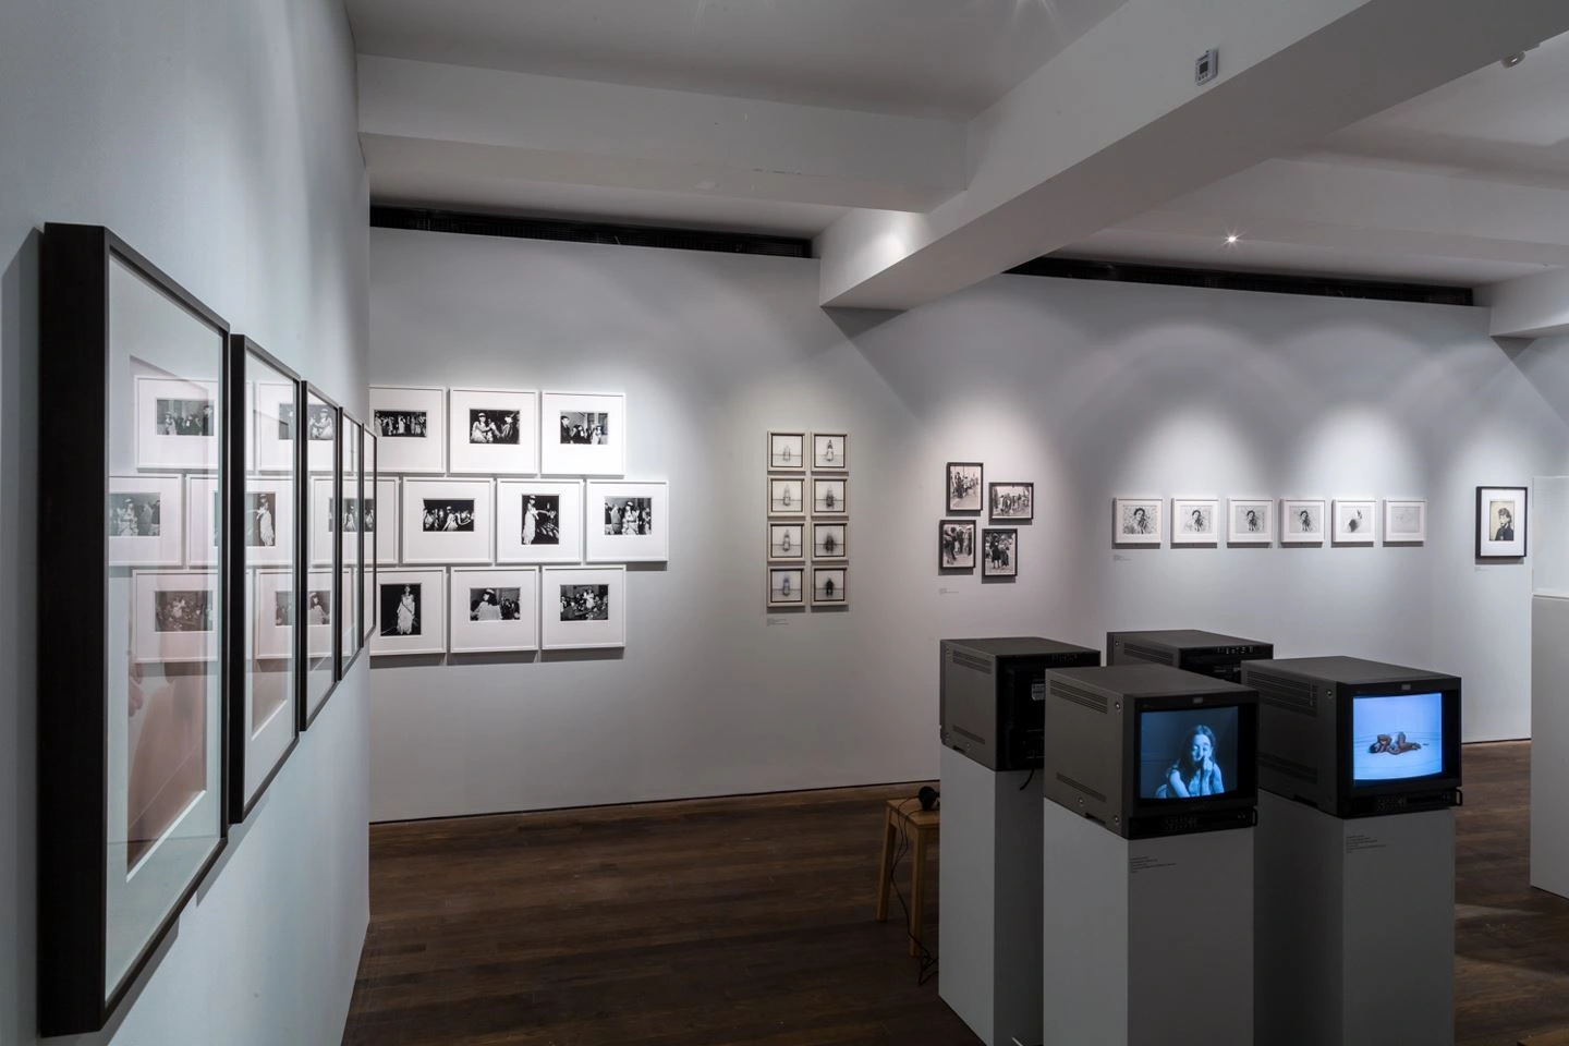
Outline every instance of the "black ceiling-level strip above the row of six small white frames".
<svg viewBox="0 0 1569 1046"><path fill-rule="evenodd" d="M1122 284L1213 287L1216 290L1254 290L1272 295L1312 295L1316 298L1371 298L1376 301L1414 301L1431 306L1475 304L1470 287L1393 284L1376 279L1338 279L1331 276L1241 273L1222 268L1181 268L1175 265L1134 265L1078 257L1037 257L1007 271L1015 276L1108 279Z"/></svg>

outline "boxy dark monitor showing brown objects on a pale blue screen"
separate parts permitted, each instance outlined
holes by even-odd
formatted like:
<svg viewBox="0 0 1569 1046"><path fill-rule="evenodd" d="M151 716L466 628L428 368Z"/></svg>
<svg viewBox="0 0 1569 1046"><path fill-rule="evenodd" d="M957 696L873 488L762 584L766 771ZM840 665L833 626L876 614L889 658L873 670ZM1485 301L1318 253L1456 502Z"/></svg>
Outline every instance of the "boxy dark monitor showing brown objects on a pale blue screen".
<svg viewBox="0 0 1569 1046"><path fill-rule="evenodd" d="M1357 657L1243 665L1258 690L1260 787L1335 817L1461 801L1461 681Z"/></svg>

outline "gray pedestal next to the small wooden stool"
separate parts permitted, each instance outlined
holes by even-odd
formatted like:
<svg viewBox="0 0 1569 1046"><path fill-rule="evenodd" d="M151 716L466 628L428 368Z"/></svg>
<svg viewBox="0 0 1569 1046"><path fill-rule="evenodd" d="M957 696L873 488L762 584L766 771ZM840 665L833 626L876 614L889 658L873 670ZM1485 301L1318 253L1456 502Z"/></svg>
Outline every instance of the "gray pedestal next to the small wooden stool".
<svg viewBox="0 0 1569 1046"><path fill-rule="evenodd" d="M1040 1043L1040 773L943 748L937 994L987 1046Z"/></svg>

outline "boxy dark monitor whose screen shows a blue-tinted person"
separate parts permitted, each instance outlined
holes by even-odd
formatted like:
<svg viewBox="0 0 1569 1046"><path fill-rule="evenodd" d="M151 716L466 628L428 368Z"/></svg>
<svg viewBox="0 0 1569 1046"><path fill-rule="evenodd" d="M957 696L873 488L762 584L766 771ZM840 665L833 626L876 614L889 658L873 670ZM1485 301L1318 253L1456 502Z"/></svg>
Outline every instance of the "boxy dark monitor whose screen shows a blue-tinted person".
<svg viewBox="0 0 1569 1046"><path fill-rule="evenodd" d="M1167 665L1047 673L1047 798L1130 839L1244 828L1258 695Z"/></svg>

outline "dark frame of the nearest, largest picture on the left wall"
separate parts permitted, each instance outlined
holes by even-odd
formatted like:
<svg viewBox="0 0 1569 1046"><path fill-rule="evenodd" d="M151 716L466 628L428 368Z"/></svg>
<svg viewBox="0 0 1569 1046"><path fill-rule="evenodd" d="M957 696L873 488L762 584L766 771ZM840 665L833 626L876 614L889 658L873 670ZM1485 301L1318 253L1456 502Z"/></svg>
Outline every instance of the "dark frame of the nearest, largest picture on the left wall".
<svg viewBox="0 0 1569 1046"><path fill-rule="evenodd" d="M232 601L224 597L212 618L218 627L213 640L218 665L206 673L210 682L201 690L202 715L218 717L215 731L212 726L204 729L206 737L217 737L217 742L204 748L198 792L215 792L213 809L204 800L201 808L202 823L215 814L212 831L182 836L182 842L191 844L179 847L185 855L180 867L188 867L188 873L158 894L157 911L163 914L147 921L151 930L138 932L132 925L124 933L127 939L118 942L118 950L126 960L121 972L111 974L107 968L116 902L110 891L124 889L124 884L111 883L115 858L105 859L113 855L113 845L122 845L110 836L110 714L126 714L111 693L108 645L113 635L107 607L113 568L105 538L115 436L110 425L111 364L118 353L127 351L113 343L110 284L116 267L140 278L196 326L206 328L202 339L210 331L210 373L220 375L220 386L232 384L229 325L223 317L104 226L46 224L39 268L38 452L38 572L47 579L38 587L38 1027L46 1038L96 1032L108 1022L229 839L228 745L223 742L231 692L223 665L234 660L235 629ZM231 401L224 392L220 387L220 405ZM72 423L55 425L61 414L69 414ZM226 489L235 481L226 467L234 441L232 417L224 409L218 431L201 434L217 436L213 467L223 474L221 503L232 505ZM231 530L224 527L217 565L221 580L234 577L234 555ZM83 607L97 613L83 613ZM129 693L126 699L129 703ZM132 756L124 762L127 778L133 776ZM196 815L195 806L190 815ZM127 917L124 911L121 917Z"/></svg>

